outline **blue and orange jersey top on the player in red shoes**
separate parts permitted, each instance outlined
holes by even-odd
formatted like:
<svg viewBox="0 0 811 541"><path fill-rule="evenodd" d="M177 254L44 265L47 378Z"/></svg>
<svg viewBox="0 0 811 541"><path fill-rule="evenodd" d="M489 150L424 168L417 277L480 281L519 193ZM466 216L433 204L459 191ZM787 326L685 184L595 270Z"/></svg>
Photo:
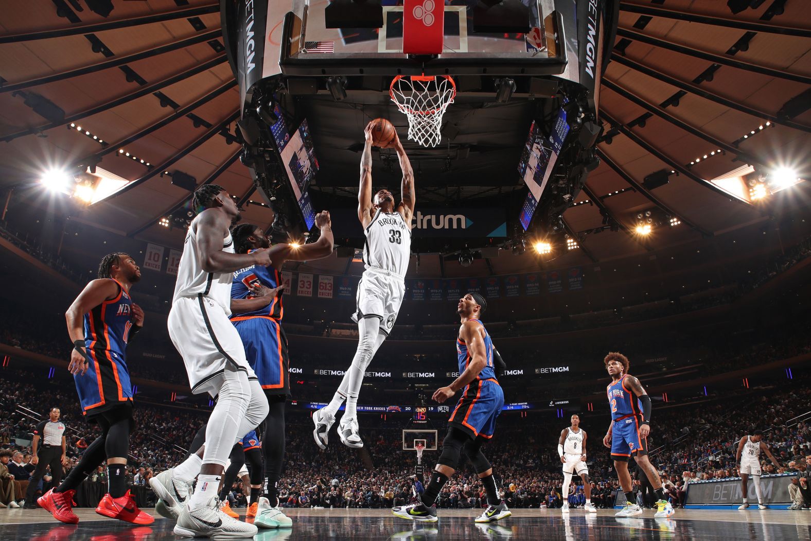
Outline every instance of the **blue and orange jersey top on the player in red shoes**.
<svg viewBox="0 0 811 541"><path fill-rule="evenodd" d="M105 300L84 315L85 347L98 352L113 351L125 359L132 328L131 308L130 295L118 284L118 296Z"/></svg>

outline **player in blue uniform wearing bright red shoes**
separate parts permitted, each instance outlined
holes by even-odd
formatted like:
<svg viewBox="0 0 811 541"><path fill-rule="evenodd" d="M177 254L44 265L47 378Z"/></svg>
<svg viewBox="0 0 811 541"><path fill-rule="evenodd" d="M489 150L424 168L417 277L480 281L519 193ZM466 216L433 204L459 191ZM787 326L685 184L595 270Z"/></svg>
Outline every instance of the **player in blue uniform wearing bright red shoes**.
<svg viewBox="0 0 811 541"><path fill-rule="evenodd" d="M135 524L155 522L135 506L127 490L127 452L135 420L125 351L127 341L144 324L144 311L130 298L130 288L140 277L130 255L105 255L99 264L98 280L85 286L65 313L74 345L68 370L75 379L82 413L88 423L101 427L101 437L84 450L79 464L62 484L37 500L62 522L79 522L71 510L76 488L105 458L108 491L96 513Z"/></svg>

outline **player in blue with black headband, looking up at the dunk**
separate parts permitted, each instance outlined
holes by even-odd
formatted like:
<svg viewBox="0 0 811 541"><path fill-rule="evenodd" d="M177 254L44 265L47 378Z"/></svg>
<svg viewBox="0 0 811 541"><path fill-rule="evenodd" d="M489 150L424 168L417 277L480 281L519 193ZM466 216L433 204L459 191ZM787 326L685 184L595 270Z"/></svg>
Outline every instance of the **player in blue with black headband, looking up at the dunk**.
<svg viewBox="0 0 811 541"><path fill-rule="evenodd" d="M500 499L493 469L481 450L482 444L493 437L496 418L504 406L504 393L496 380L493 342L479 320L486 308L487 301L478 293L468 293L459 299L459 377L447 387L436 389L433 398L441 404L464 390L448 419L448 435L442 441L442 454L431 473L431 482L423 495L418 496L417 503L392 508L397 517L436 522L436 498L456 471L461 453L466 454L487 492L487 509L475 522L495 522L513 514Z"/></svg>

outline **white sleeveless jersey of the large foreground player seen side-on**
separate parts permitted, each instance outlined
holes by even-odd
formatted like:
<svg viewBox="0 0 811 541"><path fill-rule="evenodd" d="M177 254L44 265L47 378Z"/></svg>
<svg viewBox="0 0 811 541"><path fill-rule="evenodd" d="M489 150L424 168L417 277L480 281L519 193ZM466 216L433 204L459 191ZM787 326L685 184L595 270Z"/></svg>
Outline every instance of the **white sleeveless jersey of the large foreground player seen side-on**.
<svg viewBox="0 0 811 541"><path fill-rule="evenodd" d="M203 265L200 264L200 239L196 233L196 221L197 218L191 222L186 241L183 243L183 255L180 257L178 281L174 284L172 301L181 297L196 297L198 294L204 294L217 302L225 313L230 315L231 283L234 281L234 276L232 273L206 273L203 270ZM234 253L234 239L231 238L230 233L222 241L222 251Z"/></svg>

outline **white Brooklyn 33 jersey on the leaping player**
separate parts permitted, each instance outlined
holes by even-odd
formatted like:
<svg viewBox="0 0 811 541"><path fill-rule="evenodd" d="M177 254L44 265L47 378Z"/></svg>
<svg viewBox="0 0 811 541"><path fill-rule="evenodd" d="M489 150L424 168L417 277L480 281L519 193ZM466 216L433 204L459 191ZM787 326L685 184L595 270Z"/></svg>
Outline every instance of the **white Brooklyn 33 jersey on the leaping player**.
<svg viewBox="0 0 811 541"><path fill-rule="evenodd" d="M411 230L400 213L383 213L378 209L366 230L363 263L405 276L411 255Z"/></svg>

